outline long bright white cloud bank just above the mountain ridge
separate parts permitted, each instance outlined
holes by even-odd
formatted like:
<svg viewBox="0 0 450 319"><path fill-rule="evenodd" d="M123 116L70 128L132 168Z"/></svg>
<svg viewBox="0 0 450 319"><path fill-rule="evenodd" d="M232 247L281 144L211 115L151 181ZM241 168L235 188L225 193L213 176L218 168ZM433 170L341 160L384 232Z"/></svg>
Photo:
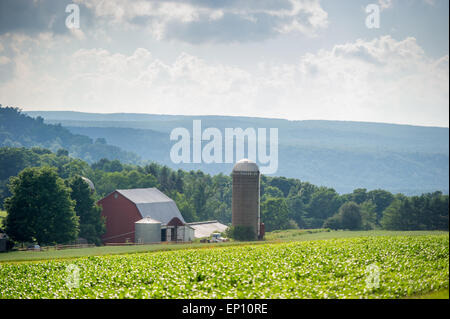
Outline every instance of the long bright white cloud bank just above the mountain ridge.
<svg viewBox="0 0 450 319"><path fill-rule="evenodd" d="M357 40L254 71L186 53L163 62L144 48L46 60L22 49L26 39L13 45L15 74L0 84L5 105L448 126L448 55L432 59L414 38Z"/></svg>

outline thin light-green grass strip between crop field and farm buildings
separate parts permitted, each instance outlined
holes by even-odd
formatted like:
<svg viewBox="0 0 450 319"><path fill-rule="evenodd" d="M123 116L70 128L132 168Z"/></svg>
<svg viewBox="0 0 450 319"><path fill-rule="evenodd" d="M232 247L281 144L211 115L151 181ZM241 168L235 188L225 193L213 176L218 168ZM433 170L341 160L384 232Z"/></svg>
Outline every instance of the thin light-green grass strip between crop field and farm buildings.
<svg viewBox="0 0 450 319"><path fill-rule="evenodd" d="M448 234L442 231L328 231L321 230L285 230L266 234L266 241L258 242L225 242L225 243L192 243L192 244L152 244L137 246L102 246L80 249L50 250L50 251L12 251L0 253L0 263L41 261L48 259L72 259L88 256L133 254L143 252L181 250L181 249L211 249L215 247L262 244L267 242L311 241L337 238L365 237L365 236L409 236Z"/></svg>

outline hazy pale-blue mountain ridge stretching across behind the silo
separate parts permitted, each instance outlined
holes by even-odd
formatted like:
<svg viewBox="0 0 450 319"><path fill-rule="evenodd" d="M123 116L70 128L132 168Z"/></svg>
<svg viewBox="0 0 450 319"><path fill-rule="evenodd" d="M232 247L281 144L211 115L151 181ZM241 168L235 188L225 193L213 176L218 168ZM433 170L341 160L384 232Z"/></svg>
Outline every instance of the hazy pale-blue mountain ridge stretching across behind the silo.
<svg viewBox="0 0 450 319"><path fill-rule="evenodd" d="M27 112L47 123L61 123L72 133L106 141L171 168L229 174L232 164L174 164L170 132L192 134L192 121L202 129L278 128L276 176L298 178L332 187L339 193L356 188L382 188L417 195L449 190L449 130L383 123L288 121L230 116L94 114L66 111Z"/></svg>

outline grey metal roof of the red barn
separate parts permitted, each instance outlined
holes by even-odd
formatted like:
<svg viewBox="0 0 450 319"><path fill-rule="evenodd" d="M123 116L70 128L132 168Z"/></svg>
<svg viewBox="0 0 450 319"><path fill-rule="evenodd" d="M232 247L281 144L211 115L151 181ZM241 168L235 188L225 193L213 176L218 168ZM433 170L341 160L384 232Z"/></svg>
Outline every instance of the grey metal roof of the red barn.
<svg viewBox="0 0 450 319"><path fill-rule="evenodd" d="M177 217L185 223L175 202L157 188L118 189L117 192L136 204L142 218L149 217L165 225Z"/></svg>

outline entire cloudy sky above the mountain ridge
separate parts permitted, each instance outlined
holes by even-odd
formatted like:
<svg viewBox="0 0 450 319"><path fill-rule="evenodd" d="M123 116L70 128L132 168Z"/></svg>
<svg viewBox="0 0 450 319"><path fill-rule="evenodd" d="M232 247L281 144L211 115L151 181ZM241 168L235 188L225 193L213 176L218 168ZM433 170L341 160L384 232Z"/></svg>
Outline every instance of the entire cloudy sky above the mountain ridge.
<svg viewBox="0 0 450 319"><path fill-rule="evenodd" d="M448 12L448 0L1 0L0 103L448 127Z"/></svg>

